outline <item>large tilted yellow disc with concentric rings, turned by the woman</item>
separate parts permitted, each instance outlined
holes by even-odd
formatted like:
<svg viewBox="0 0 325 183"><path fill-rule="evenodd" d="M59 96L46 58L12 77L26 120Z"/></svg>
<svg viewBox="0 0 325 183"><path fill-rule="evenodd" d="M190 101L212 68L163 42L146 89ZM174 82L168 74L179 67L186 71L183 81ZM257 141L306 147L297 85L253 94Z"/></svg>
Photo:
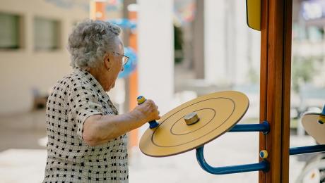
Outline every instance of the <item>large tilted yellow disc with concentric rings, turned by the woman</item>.
<svg viewBox="0 0 325 183"><path fill-rule="evenodd" d="M246 113L249 100L241 92L215 92L172 109L158 127L146 130L140 140L143 153L172 156L196 149L230 130ZM195 112L199 122L187 125L184 117Z"/></svg>

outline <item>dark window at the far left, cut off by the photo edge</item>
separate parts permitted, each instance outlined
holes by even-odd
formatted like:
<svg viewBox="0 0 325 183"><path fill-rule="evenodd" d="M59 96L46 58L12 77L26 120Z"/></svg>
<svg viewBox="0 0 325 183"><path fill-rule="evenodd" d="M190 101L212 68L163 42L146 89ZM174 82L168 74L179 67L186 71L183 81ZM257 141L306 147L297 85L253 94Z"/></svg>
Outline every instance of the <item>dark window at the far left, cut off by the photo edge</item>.
<svg viewBox="0 0 325 183"><path fill-rule="evenodd" d="M18 49L19 45L19 16L0 12L0 49Z"/></svg>

